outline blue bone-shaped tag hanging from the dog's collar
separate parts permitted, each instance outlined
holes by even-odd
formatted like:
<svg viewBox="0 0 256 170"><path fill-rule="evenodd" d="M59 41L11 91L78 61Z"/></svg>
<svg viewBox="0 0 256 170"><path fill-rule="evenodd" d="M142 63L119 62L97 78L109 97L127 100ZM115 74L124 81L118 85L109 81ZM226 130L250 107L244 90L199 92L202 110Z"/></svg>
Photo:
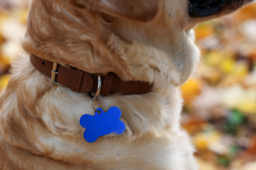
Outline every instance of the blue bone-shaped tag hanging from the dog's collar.
<svg viewBox="0 0 256 170"><path fill-rule="evenodd" d="M84 127L84 138L86 141L93 143L98 137L108 134L123 134L126 126L121 118L121 110L118 107L111 107L107 112L104 112L101 108L97 109L101 111L101 114L95 112L94 116L83 115L80 118L80 124Z"/></svg>

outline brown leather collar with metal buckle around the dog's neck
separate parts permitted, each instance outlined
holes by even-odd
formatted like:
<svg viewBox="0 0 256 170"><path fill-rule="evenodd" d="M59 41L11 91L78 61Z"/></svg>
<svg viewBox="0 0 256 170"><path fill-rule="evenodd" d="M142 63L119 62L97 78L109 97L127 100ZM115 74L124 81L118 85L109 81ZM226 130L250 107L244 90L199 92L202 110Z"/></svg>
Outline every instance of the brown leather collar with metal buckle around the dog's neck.
<svg viewBox="0 0 256 170"><path fill-rule="evenodd" d="M43 60L35 55L30 55L33 66L44 75L54 78L55 83L68 87L74 92L96 92L98 87L98 75L90 74L77 68L66 68L48 60ZM152 92L152 84L143 81L122 81L115 73L107 73L102 76L101 96L106 97L112 94L138 95Z"/></svg>

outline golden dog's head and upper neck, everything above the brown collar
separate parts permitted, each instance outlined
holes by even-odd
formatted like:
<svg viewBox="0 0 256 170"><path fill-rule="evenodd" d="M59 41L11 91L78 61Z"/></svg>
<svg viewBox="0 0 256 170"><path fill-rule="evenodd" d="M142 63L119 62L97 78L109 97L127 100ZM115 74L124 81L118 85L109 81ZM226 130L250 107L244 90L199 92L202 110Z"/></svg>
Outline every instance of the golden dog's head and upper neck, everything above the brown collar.
<svg viewBox="0 0 256 170"><path fill-rule="evenodd" d="M193 27L251 1L33 0L23 47L91 73L179 85L199 58Z"/></svg>

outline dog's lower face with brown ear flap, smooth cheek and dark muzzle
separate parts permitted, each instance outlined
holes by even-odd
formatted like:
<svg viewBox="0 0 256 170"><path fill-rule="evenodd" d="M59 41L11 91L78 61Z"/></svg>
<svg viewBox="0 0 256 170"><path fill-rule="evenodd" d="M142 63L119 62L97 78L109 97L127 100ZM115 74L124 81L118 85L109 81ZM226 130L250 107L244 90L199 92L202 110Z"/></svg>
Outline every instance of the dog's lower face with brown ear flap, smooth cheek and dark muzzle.
<svg viewBox="0 0 256 170"><path fill-rule="evenodd" d="M171 56L174 67L180 73L177 84L187 80L196 63L193 60L197 58L193 56L193 53L197 53L196 48L188 44L188 41L193 41L190 30L199 22L232 13L251 1L69 0L81 9L102 13L123 39L147 44Z"/></svg>

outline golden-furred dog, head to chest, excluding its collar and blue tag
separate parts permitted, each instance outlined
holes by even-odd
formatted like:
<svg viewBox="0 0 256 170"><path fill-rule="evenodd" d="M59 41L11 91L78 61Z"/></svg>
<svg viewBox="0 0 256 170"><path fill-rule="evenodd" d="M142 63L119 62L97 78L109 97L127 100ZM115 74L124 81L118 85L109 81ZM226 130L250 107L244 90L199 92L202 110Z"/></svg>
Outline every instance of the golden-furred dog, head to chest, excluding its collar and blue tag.
<svg viewBox="0 0 256 170"><path fill-rule="evenodd" d="M13 63L0 100L0 169L198 169L179 123L179 86L199 60L193 27L251 1L32 0L28 56ZM52 83L30 55L152 90L99 95L94 106L119 107L126 130L89 143L79 120L95 114L90 95Z"/></svg>

